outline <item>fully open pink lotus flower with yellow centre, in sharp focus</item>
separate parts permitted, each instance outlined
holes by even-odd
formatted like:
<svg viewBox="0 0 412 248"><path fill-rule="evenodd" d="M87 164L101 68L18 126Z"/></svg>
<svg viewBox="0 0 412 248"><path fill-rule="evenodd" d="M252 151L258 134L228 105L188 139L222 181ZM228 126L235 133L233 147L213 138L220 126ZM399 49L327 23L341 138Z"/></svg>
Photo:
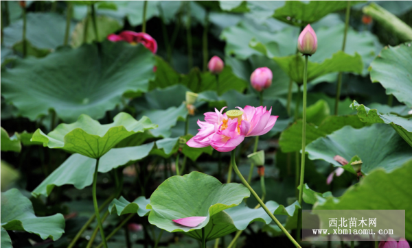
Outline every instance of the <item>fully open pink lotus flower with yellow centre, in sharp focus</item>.
<svg viewBox="0 0 412 248"><path fill-rule="evenodd" d="M225 107L227 108L227 107ZM206 112L205 121L198 121L200 129L196 136L187 141L190 147L211 146L217 151L227 152L235 149L244 137L260 136L269 132L275 125L278 116L271 116L266 107L236 107L225 114L222 111ZM230 113L230 114L228 114ZM233 115L236 113L237 115Z"/></svg>

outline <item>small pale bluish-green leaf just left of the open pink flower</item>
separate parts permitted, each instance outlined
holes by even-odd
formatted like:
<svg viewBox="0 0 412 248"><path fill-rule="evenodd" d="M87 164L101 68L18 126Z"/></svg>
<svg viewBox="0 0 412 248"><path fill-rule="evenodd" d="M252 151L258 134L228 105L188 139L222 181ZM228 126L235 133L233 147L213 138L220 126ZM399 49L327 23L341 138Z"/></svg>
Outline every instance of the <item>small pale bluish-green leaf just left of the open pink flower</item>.
<svg viewBox="0 0 412 248"><path fill-rule="evenodd" d="M185 121L187 116L187 108L184 103L178 108L170 107L167 110L146 110L141 115L148 116L153 123L159 125L157 129L150 132L155 137L168 138L172 134L170 128L174 127L177 121Z"/></svg>

